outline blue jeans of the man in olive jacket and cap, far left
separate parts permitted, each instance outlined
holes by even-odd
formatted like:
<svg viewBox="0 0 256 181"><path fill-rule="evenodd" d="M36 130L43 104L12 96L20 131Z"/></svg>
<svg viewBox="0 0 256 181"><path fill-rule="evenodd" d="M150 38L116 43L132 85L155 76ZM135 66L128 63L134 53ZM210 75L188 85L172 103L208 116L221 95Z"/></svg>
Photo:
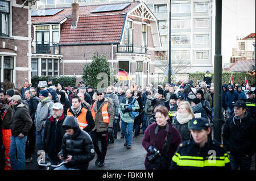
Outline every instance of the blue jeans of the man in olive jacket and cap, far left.
<svg viewBox="0 0 256 181"><path fill-rule="evenodd" d="M25 148L27 136L20 139L18 136L11 136L11 145L9 151L9 158L13 170L25 170ZM18 158L17 158L18 157Z"/></svg>

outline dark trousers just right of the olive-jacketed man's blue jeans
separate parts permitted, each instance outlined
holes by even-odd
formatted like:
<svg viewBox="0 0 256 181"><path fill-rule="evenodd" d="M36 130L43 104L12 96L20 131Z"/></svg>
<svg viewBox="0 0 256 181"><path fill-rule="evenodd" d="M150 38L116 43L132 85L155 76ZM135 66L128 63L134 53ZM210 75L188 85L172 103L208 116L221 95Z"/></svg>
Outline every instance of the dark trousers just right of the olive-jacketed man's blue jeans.
<svg viewBox="0 0 256 181"><path fill-rule="evenodd" d="M27 133L26 149L25 155L26 158L30 158L32 153L35 151L35 125L33 123L30 131Z"/></svg>

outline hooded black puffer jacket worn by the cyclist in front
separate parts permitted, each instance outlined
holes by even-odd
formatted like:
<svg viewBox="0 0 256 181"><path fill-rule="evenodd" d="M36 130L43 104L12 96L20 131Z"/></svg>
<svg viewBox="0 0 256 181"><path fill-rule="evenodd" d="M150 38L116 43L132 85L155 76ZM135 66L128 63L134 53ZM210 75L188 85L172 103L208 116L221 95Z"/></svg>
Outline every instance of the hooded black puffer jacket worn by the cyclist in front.
<svg viewBox="0 0 256 181"><path fill-rule="evenodd" d="M68 168L72 169L88 169L89 162L94 158L94 146L92 138L85 131L79 128L76 119L70 119L73 116L67 116L63 122L63 127L74 129L75 133L69 135L64 134L61 150L58 154L72 155L72 161L65 164Z"/></svg>

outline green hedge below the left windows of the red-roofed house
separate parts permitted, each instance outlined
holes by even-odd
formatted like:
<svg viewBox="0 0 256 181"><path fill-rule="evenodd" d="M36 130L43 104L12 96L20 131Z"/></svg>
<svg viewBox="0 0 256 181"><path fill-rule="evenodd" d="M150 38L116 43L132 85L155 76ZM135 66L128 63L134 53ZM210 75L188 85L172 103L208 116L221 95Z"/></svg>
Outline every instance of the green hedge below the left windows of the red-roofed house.
<svg viewBox="0 0 256 181"><path fill-rule="evenodd" d="M52 84L57 86L57 84L63 83L64 87L68 87L68 86L76 86L76 77L68 77L68 76L61 76L61 77L51 77L51 76L47 76L47 77L39 77L39 76L35 76L31 78L31 83L32 86L35 86L35 83L39 83L39 81L48 81L48 79L52 79Z"/></svg>

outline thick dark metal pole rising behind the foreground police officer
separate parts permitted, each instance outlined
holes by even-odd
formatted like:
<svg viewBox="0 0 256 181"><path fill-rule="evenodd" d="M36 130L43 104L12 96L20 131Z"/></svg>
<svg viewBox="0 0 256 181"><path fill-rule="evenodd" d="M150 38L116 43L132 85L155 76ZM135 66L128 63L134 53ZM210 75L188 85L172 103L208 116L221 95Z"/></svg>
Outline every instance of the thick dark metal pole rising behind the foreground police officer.
<svg viewBox="0 0 256 181"><path fill-rule="evenodd" d="M216 0L216 22L215 22L215 55L214 55L214 126L213 137L221 142L221 83L222 83L222 55L221 55L221 20L222 20L222 0Z"/></svg>

